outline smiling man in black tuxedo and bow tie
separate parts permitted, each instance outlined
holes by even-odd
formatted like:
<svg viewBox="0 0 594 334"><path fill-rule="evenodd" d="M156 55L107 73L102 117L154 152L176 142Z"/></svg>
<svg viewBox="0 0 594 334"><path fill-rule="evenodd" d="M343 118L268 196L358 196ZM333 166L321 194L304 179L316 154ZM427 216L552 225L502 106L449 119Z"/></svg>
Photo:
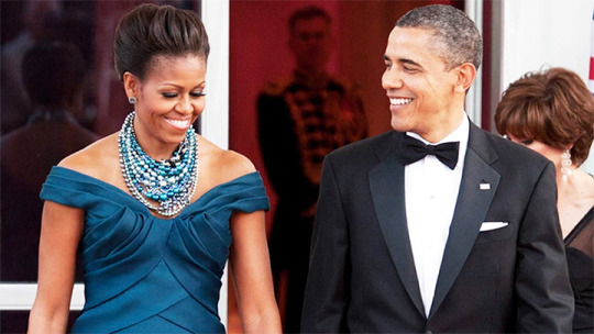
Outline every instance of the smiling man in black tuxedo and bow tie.
<svg viewBox="0 0 594 334"><path fill-rule="evenodd" d="M323 164L304 333L569 333L554 167L472 124L474 23L417 8L388 37L394 131Z"/></svg>

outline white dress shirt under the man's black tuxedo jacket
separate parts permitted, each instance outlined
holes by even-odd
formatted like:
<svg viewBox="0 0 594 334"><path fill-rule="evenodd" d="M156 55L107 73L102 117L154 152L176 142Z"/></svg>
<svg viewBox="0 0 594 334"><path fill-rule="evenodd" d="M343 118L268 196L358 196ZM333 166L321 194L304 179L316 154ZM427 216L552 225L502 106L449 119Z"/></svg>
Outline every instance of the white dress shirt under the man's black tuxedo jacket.
<svg viewBox="0 0 594 334"><path fill-rule="evenodd" d="M428 155L405 167L408 234L427 316L433 301L441 259L460 190L469 133L470 123L465 115L458 129L439 143L429 143L415 133L407 133L426 144L460 142L458 164L453 170L433 155Z"/></svg>

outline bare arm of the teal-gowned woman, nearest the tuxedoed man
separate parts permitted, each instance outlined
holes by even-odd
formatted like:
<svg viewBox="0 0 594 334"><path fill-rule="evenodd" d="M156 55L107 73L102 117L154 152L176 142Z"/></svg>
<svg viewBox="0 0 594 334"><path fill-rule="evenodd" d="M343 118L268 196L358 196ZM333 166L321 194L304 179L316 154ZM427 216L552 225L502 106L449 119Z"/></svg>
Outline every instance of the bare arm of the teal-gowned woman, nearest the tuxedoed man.
<svg viewBox="0 0 594 334"><path fill-rule="evenodd" d="M243 333L282 333L274 299L264 212L235 212L230 221L233 243L229 265Z"/></svg>

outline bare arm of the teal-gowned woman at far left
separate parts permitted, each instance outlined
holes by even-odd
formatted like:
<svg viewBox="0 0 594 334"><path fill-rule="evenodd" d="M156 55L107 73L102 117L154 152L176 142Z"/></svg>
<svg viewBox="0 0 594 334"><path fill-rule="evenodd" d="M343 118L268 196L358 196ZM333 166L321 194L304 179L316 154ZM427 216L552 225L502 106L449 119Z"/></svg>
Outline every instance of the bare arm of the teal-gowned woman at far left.
<svg viewBox="0 0 594 334"><path fill-rule="evenodd" d="M29 333L65 333L85 212L46 201L40 240L37 294Z"/></svg>

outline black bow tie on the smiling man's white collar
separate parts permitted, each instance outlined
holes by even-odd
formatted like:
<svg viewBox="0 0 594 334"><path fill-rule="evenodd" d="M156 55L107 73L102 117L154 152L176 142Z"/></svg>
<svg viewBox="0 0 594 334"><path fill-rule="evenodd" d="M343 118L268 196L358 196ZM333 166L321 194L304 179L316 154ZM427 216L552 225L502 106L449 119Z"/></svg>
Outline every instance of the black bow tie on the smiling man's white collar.
<svg viewBox="0 0 594 334"><path fill-rule="evenodd" d="M424 142L405 134L400 141L400 162L408 165L422 159L427 155L435 155L443 165L454 169L455 164L458 164L459 146L460 142L426 145Z"/></svg>

